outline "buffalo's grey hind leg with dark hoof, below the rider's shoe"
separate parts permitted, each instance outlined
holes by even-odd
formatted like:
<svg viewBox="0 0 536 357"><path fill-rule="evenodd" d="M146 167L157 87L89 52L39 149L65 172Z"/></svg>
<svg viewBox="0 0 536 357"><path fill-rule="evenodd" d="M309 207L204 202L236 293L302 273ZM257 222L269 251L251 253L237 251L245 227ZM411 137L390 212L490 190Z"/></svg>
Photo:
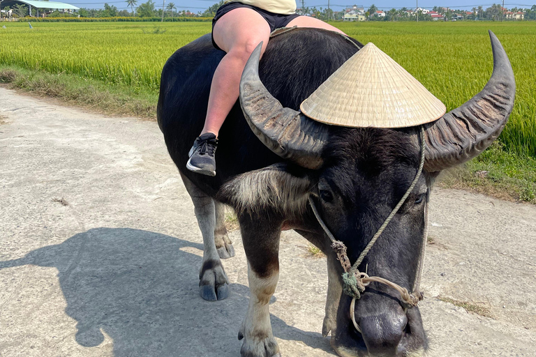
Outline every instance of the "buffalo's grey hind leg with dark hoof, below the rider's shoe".
<svg viewBox="0 0 536 357"><path fill-rule="evenodd" d="M195 217L203 236L203 263L199 273L199 294L204 300L223 300L229 296L228 278L214 243L216 208L214 199L182 175L182 181L195 208Z"/></svg>

